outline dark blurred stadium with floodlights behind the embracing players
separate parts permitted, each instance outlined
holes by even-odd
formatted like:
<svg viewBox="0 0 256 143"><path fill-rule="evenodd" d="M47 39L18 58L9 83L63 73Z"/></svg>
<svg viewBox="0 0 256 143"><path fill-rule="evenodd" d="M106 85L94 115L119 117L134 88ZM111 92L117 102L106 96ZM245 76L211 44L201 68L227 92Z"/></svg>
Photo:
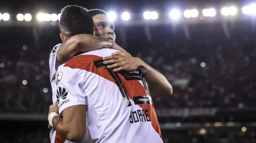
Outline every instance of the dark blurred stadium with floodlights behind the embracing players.
<svg viewBox="0 0 256 143"><path fill-rule="evenodd" d="M61 40L58 21L37 14L72 4L116 12L116 42L167 77L173 96L153 98L164 142L256 142L256 12L242 10L253 2L164 0L1 1L0 13L10 16L0 20L1 142L49 142L48 60ZM216 15L203 16L205 8ZM198 16L187 11L193 17L185 18L186 9ZM121 19L124 11L130 20ZM145 11L158 18L145 20ZM31 21L17 20L27 13Z"/></svg>

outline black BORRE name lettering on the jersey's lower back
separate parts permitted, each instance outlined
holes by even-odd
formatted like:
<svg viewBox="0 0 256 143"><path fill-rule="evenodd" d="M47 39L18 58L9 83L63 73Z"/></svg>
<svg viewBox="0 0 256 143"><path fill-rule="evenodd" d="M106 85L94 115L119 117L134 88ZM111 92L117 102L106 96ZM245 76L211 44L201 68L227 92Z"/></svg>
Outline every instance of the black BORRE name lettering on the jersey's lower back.
<svg viewBox="0 0 256 143"><path fill-rule="evenodd" d="M149 122L151 121L148 119L148 110L136 110L131 111L130 113L130 123L137 123L137 122Z"/></svg>

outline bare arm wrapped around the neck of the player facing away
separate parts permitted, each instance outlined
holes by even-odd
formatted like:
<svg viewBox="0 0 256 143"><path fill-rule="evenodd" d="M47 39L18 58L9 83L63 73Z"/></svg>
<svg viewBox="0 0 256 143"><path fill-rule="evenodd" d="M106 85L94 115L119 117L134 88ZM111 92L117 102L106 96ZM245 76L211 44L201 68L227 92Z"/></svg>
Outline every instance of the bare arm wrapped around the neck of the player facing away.
<svg viewBox="0 0 256 143"><path fill-rule="evenodd" d="M57 50L55 69L80 52L101 48L113 48L126 53L123 48L115 44L112 40L91 34L77 34L63 42Z"/></svg>

